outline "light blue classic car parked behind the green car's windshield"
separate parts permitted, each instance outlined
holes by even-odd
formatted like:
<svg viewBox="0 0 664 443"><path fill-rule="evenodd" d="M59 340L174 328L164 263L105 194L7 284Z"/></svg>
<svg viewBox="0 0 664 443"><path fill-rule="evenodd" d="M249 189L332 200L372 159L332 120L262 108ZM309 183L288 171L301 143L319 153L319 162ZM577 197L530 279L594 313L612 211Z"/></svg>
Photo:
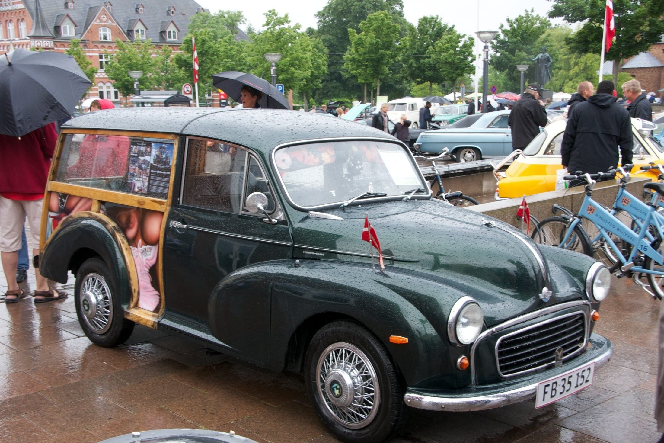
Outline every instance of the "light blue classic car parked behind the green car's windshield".
<svg viewBox="0 0 664 443"><path fill-rule="evenodd" d="M483 158L502 158L512 152L512 130L507 126L509 110L466 116L456 123L423 132L414 143L422 153L440 154L450 149L450 157L459 163ZM560 115L560 111L547 111L547 120Z"/></svg>

